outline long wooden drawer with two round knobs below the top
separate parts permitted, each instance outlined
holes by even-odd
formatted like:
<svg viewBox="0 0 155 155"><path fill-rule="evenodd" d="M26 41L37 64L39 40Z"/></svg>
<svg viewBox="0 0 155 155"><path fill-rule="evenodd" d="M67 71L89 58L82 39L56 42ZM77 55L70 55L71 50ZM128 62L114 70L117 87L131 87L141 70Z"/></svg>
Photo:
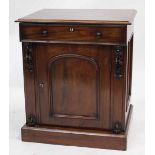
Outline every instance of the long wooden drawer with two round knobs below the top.
<svg viewBox="0 0 155 155"><path fill-rule="evenodd" d="M125 26L20 25L22 40L125 43Z"/></svg>

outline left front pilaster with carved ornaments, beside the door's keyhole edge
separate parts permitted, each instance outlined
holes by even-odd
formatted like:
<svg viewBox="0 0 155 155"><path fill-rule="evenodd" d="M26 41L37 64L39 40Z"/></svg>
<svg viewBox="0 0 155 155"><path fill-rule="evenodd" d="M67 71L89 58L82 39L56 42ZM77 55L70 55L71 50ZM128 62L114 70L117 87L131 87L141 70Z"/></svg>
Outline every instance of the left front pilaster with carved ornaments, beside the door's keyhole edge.
<svg viewBox="0 0 155 155"><path fill-rule="evenodd" d="M34 76L34 56L31 43L22 43L23 51L23 73L24 73L24 92L25 92L25 110L27 125L36 123L35 110L35 76ZM32 122L31 122L32 121ZM31 123L30 123L31 122Z"/></svg>

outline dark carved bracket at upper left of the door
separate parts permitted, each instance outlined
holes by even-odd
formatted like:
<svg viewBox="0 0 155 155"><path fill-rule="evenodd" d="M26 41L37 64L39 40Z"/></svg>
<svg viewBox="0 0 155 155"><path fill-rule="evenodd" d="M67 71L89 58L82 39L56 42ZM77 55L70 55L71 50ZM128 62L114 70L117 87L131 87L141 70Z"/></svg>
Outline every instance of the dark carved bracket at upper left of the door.
<svg viewBox="0 0 155 155"><path fill-rule="evenodd" d="M24 61L28 71L32 73L33 72L32 43L26 43Z"/></svg>

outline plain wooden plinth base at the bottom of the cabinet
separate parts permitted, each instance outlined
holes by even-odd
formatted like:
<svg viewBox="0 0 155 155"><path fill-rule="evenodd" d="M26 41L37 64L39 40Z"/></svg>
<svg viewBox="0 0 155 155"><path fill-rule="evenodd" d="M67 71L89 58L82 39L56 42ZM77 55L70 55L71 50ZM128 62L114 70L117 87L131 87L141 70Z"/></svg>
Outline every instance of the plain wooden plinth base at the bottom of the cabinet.
<svg viewBox="0 0 155 155"><path fill-rule="evenodd" d="M108 131L98 130L84 130L50 126L28 127L24 125L21 129L22 140L26 142L126 150L127 134L132 109L133 106L130 105L126 130L121 134L113 134Z"/></svg>

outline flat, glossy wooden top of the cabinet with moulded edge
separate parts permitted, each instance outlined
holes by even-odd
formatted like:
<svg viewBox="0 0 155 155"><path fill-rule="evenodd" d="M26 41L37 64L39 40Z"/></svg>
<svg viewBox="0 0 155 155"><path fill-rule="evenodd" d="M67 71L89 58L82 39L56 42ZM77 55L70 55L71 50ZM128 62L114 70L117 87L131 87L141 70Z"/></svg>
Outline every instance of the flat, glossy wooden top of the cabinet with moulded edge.
<svg viewBox="0 0 155 155"><path fill-rule="evenodd" d="M136 10L129 9L43 9L16 22L130 25L135 15Z"/></svg>

